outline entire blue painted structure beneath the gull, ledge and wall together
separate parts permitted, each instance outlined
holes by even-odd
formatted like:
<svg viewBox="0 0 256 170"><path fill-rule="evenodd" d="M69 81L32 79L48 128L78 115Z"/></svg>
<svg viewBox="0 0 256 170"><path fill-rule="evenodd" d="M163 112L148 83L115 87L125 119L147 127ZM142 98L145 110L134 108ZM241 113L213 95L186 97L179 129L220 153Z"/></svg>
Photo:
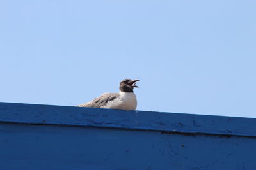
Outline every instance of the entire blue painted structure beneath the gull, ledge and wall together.
<svg viewBox="0 0 256 170"><path fill-rule="evenodd" d="M256 119L0 103L1 169L255 169Z"/></svg>

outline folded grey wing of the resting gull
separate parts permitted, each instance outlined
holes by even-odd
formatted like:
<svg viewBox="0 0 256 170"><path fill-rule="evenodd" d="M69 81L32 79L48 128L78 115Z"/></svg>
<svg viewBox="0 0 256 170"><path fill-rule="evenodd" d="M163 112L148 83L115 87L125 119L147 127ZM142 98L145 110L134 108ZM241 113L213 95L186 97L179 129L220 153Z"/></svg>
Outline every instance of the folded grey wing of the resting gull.
<svg viewBox="0 0 256 170"><path fill-rule="evenodd" d="M93 101L80 104L78 107L101 108L102 106L105 106L109 101L116 99L118 96L118 93L104 93L101 96L93 99Z"/></svg>

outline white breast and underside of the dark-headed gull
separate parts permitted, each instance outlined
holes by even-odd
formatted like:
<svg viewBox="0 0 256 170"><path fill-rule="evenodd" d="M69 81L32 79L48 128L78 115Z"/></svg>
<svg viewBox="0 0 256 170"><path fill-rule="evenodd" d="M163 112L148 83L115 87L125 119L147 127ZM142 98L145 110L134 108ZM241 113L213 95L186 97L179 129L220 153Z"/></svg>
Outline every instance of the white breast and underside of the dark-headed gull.
<svg viewBox="0 0 256 170"><path fill-rule="evenodd" d="M135 110L137 107L137 99L134 93L119 92L119 97L113 101L109 101L102 108L120 109L120 110Z"/></svg>

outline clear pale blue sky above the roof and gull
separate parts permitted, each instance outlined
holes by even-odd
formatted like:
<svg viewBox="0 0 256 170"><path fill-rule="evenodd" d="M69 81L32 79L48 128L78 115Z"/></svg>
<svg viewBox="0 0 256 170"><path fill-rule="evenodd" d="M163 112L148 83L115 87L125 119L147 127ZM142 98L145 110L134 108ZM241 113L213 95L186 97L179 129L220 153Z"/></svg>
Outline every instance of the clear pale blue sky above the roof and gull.
<svg viewBox="0 0 256 170"><path fill-rule="evenodd" d="M256 117L256 1L0 0L0 101Z"/></svg>

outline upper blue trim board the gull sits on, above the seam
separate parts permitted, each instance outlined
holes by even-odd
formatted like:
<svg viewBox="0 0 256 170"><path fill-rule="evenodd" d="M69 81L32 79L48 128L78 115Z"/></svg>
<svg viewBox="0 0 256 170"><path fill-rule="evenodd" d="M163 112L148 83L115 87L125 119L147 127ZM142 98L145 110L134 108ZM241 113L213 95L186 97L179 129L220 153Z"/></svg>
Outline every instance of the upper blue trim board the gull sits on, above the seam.
<svg viewBox="0 0 256 170"><path fill-rule="evenodd" d="M256 118L0 102L0 122L256 137Z"/></svg>

